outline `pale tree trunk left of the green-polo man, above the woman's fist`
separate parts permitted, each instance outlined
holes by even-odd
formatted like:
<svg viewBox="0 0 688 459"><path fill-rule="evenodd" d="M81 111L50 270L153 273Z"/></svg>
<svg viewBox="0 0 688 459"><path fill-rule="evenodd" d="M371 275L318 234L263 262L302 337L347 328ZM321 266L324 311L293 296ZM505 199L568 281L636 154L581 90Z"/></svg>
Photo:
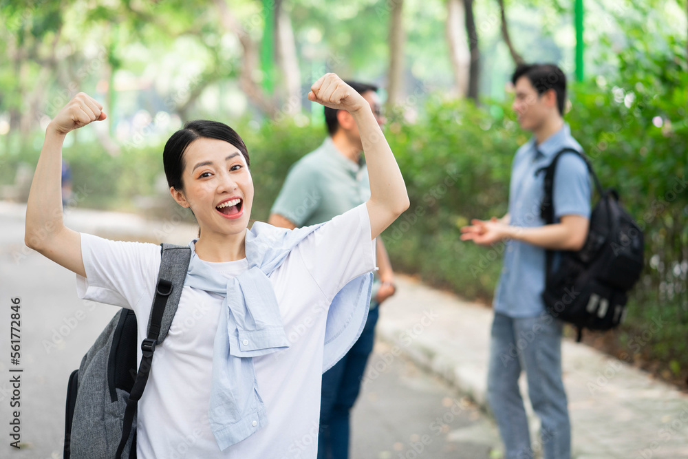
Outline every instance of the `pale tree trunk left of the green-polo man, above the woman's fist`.
<svg viewBox="0 0 688 459"><path fill-rule="evenodd" d="M292 19L284 8L283 0L275 1L275 50L284 94L281 112L285 115L297 114L301 111L301 72Z"/></svg>

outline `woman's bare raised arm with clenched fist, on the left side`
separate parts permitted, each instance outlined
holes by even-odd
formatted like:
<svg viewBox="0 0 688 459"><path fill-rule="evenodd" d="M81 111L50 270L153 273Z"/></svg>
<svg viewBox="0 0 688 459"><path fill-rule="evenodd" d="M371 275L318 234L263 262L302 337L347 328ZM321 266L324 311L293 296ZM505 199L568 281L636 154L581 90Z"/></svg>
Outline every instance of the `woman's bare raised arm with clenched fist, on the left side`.
<svg viewBox="0 0 688 459"><path fill-rule="evenodd" d="M86 276L81 258L81 237L62 217L62 145L69 131L105 120L103 105L87 94L77 94L53 118L26 205L24 243L78 275Z"/></svg>

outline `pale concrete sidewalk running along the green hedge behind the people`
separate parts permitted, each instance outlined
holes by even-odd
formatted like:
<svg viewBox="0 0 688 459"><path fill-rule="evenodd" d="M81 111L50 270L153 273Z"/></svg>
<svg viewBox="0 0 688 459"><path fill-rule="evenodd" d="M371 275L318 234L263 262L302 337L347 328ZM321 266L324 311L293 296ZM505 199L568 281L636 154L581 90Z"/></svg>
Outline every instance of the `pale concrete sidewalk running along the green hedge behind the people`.
<svg viewBox="0 0 688 459"><path fill-rule="evenodd" d="M0 215L23 217L24 213L21 204L0 202ZM76 231L104 237L175 244L186 244L197 231L175 218L151 222L131 214L83 209L67 210L65 222ZM400 275L397 284L398 293L385 302L378 322L378 339L390 345L383 363L400 354L409 356L486 407L492 311L411 277ZM652 330L656 328L648 325L647 332ZM378 362L369 367L366 378L383 371ZM688 458L686 394L568 339L563 342L563 372L574 458ZM529 406L524 378L521 383ZM537 419L529 414L538 451Z"/></svg>

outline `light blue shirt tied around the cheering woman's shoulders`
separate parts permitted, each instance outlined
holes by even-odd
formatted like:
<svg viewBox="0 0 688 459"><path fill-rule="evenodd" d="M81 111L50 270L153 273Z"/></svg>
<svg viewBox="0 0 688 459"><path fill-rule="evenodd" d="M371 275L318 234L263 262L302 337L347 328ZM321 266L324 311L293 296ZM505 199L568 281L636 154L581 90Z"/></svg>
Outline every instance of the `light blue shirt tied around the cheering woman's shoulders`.
<svg viewBox="0 0 688 459"><path fill-rule="evenodd" d="M256 222L246 231L248 270L227 279L195 254L185 286L224 295L213 343L213 378L208 416L222 451L266 425L253 357L284 350L290 342L268 276L305 237L322 224L287 230ZM349 350L365 325L372 273L356 277L332 300L325 326L323 372ZM360 324L360 326L349 326Z"/></svg>

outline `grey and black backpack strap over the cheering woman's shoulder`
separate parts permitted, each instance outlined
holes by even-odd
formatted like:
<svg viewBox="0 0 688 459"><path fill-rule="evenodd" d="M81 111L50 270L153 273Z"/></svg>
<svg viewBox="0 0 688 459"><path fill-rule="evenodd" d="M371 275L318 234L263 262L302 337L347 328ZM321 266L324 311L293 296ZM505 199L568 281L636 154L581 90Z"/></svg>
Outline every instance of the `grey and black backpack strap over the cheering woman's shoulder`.
<svg viewBox="0 0 688 459"><path fill-rule="evenodd" d="M116 459L122 457L122 452L127 445L133 417L136 416L138 401L143 395L143 389L148 382L153 363L153 353L155 346L162 343L167 336L172 319L179 299L182 296L182 287L186 278L186 271L189 270L191 260L191 248L188 246L175 246L173 244L162 244L162 259L160 261L160 271L158 272L158 285L155 287L155 298L151 308L151 317L148 322L148 337L141 343L143 355L138 367L136 380L129 393L127 409L122 425L122 438L117 448Z"/></svg>

